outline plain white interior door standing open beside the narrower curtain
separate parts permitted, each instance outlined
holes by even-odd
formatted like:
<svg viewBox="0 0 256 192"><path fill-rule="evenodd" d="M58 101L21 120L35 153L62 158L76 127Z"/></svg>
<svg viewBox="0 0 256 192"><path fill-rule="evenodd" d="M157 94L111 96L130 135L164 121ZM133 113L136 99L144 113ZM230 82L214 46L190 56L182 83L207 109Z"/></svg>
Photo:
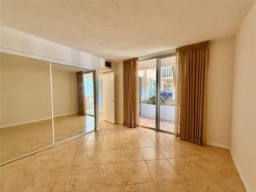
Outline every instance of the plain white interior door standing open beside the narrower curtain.
<svg viewBox="0 0 256 192"><path fill-rule="evenodd" d="M103 120L115 124L114 72L103 74Z"/></svg>

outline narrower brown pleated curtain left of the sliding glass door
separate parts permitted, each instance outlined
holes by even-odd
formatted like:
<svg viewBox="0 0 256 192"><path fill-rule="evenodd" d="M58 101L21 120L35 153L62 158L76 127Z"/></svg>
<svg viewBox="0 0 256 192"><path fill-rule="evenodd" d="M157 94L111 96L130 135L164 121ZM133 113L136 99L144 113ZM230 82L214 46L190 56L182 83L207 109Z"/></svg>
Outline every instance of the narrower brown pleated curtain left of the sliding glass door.
<svg viewBox="0 0 256 192"><path fill-rule="evenodd" d="M138 112L138 58L123 61L124 125L139 126Z"/></svg>

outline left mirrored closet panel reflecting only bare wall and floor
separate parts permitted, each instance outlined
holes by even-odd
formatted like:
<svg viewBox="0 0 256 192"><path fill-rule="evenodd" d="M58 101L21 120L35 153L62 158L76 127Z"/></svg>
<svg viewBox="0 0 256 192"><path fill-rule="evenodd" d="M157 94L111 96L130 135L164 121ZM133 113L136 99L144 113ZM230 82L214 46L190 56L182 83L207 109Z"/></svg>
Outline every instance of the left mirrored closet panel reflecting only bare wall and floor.
<svg viewBox="0 0 256 192"><path fill-rule="evenodd" d="M49 62L0 55L0 162L53 144Z"/></svg>

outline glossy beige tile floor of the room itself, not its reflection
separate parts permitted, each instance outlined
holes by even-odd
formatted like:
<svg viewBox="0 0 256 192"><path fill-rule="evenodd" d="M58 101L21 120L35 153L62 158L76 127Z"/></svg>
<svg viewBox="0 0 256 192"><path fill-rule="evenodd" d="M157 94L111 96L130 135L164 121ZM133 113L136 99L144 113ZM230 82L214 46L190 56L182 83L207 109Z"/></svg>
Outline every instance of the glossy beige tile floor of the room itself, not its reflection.
<svg viewBox="0 0 256 192"><path fill-rule="evenodd" d="M105 121L0 171L1 192L245 191L229 150Z"/></svg>

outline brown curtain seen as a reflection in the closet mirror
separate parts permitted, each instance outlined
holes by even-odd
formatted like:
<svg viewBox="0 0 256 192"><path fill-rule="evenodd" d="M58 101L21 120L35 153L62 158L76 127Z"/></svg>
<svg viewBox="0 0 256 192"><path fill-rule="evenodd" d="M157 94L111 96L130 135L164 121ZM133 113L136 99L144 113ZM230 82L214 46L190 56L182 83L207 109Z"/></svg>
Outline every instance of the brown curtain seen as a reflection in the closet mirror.
<svg viewBox="0 0 256 192"><path fill-rule="evenodd" d="M84 75L82 71L76 73L76 97L77 97L77 114L86 115Z"/></svg>

